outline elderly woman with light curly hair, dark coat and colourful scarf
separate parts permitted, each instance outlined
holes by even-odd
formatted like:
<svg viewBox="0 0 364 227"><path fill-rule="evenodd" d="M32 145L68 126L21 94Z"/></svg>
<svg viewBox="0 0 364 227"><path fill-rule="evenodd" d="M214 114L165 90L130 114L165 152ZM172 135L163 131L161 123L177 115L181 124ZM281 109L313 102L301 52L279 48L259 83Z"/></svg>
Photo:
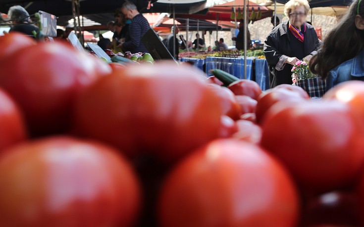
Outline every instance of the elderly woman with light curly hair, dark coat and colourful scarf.
<svg viewBox="0 0 364 227"><path fill-rule="evenodd" d="M291 69L299 60L310 61L319 45L312 25L306 23L307 0L290 0L284 7L288 21L275 27L264 42L270 87L292 84Z"/></svg>

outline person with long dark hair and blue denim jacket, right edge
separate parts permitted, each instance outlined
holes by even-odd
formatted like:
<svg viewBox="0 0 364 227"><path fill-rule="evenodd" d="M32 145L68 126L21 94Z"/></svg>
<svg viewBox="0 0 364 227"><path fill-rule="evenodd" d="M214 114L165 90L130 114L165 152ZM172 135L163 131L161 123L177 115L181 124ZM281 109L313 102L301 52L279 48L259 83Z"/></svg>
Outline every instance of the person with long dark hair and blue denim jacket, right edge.
<svg viewBox="0 0 364 227"><path fill-rule="evenodd" d="M345 81L364 81L364 0L352 2L312 57L310 69L326 79L326 90Z"/></svg>

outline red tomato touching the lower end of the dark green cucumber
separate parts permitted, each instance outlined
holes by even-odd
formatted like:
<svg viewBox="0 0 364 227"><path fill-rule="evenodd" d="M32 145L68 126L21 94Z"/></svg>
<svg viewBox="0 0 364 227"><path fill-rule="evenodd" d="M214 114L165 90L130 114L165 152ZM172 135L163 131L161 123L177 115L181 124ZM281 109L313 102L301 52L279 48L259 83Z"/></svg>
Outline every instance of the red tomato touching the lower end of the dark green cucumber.
<svg viewBox="0 0 364 227"><path fill-rule="evenodd" d="M228 86L235 95L247 95L255 100L261 94L259 84L250 80L238 80Z"/></svg>

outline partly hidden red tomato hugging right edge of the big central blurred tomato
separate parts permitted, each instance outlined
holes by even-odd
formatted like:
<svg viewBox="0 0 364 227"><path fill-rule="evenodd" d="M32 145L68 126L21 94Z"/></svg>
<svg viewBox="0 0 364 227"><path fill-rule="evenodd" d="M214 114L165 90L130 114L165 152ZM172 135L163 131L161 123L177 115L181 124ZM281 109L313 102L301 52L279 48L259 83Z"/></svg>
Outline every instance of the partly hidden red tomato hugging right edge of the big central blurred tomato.
<svg viewBox="0 0 364 227"><path fill-rule="evenodd" d="M227 88L211 84L209 85L211 91L213 91L219 98L223 114L229 116L233 120L240 118L240 105L235 99L235 95Z"/></svg>

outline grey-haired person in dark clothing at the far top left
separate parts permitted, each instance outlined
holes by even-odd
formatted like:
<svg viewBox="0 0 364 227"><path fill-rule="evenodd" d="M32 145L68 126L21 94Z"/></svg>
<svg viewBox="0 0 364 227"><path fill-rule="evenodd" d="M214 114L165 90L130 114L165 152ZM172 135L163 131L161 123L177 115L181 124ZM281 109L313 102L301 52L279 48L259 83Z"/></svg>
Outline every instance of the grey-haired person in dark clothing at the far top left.
<svg viewBox="0 0 364 227"><path fill-rule="evenodd" d="M34 38L33 32L38 32L39 28L31 23L29 13L20 5L9 8L8 18L12 21L9 32L20 32Z"/></svg>

